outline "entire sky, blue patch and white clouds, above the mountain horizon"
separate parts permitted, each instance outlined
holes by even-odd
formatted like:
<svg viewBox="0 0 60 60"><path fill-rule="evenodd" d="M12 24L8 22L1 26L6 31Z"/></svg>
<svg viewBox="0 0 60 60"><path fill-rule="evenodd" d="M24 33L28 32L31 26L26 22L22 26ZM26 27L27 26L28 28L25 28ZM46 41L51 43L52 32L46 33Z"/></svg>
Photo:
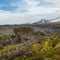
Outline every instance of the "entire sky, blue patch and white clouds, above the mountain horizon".
<svg viewBox="0 0 60 60"><path fill-rule="evenodd" d="M33 23L60 16L60 0L0 0L0 24Z"/></svg>

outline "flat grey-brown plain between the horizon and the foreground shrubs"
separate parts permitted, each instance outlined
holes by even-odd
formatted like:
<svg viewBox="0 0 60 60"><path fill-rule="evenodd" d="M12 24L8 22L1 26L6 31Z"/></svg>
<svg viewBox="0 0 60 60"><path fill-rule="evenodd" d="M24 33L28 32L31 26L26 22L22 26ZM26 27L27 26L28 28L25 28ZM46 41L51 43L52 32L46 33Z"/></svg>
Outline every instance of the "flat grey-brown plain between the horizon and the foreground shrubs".
<svg viewBox="0 0 60 60"><path fill-rule="evenodd" d="M0 36L14 34L13 29L18 27L30 27L34 31L41 31L45 34L60 34L60 24L22 24L22 25L0 25Z"/></svg>

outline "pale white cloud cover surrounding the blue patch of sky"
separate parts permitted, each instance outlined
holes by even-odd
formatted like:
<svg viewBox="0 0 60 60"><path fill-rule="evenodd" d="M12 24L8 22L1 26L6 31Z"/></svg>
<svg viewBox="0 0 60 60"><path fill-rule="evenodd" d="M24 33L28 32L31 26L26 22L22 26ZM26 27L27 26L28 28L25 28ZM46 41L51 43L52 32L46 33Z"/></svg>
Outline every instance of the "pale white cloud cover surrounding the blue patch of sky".
<svg viewBox="0 0 60 60"><path fill-rule="evenodd" d="M42 18L54 18L60 16L60 0L23 0L26 5L16 12L0 10L0 24L21 24L39 21ZM43 3L46 5L44 5ZM38 4L41 3L40 6ZM50 4L49 4L50 3ZM12 4L13 5L13 4ZM20 12L20 8L22 12ZM23 13L23 10L26 10Z"/></svg>

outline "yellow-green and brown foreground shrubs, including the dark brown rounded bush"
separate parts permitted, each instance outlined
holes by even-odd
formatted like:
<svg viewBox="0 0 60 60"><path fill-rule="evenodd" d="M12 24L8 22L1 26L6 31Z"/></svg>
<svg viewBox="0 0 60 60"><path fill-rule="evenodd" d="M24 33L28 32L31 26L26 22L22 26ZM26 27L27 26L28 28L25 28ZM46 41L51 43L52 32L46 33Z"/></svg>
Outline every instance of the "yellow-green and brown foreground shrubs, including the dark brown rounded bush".
<svg viewBox="0 0 60 60"><path fill-rule="evenodd" d="M33 32L29 27L15 28L14 32L15 36L0 37L0 60L60 60L60 35L35 32L30 34L32 39L24 37Z"/></svg>

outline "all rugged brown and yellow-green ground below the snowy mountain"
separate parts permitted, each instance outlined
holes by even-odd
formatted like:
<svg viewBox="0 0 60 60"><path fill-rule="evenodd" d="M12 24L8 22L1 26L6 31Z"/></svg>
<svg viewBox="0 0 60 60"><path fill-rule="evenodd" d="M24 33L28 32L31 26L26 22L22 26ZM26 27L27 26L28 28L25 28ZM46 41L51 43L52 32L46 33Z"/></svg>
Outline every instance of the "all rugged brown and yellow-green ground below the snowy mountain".
<svg viewBox="0 0 60 60"><path fill-rule="evenodd" d="M0 25L0 60L60 60L60 24Z"/></svg>

